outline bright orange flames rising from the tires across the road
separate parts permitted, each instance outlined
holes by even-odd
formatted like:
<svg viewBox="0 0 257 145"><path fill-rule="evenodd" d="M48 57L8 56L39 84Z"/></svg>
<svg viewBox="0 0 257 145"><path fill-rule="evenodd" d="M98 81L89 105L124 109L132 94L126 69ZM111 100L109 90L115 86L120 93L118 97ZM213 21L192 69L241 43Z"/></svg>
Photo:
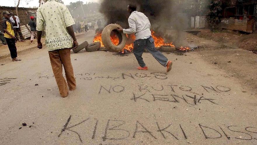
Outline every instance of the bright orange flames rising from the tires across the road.
<svg viewBox="0 0 257 145"><path fill-rule="evenodd" d="M151 30L151 32L152 32L152 37L154 39L155 47L161 47L163 45L170 45L171 47L175 47L172 44L172 42L165 43L164 39L162 37L157 37L153 30ZM126 35L126 36L128 38L128 41L127 41L127 44L125 45L124 49L122 50L122 52L124 52L125 49L129 50L129 51L132 51L133 50L133 42L136 39L135 35ZM114 45L118 45L119 44L119 38L116 35L110 36L110 39L111 39L111 41L112 41L112 43ZM96 33L96 35L95 35L95 37L93 39L93 42L100 42L101 43L101 47L104 47L103 41L102 41L102 33L101 32L97 32Z"/></svg>

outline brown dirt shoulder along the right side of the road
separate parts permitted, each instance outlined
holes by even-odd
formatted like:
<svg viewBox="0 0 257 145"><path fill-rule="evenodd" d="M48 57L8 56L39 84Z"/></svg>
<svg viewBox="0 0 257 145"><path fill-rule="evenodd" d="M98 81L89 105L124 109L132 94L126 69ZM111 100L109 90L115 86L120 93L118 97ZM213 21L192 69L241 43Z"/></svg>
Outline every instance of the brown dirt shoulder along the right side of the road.
<svg viewBox="0 0 257 145"><path fill-rule="evenodd" d="M252 90L257 90L257 55L249 50L228 47L228 45L222 43L224 42L224 40L218 38L222 36L216 33L214 33L213 35L212 34L213 33L209 34L212 36L209 37L209 39L211 40L203 38L202 34L200 34L200 36L198 35L199 37L192 34L187 34L187 37L185 39L190 44L200 46L200 49L198 49L194 53L199 54L202 59L206 60L212 65L217 66L217 68L225 70L228 73L225 77L237 78L243 86L249 87ZM245 39L242 42L245 42L248 39L252 39L247 38L249 37L249 35L239 36L230 33L222 35L234 36L235 40L237 41ZM252 34L251 36L253 35L255 34ZM228 40L226 42L229 43L235 41L231 37L225 39ZM216 42L214 40L219 41Z"/></svg>

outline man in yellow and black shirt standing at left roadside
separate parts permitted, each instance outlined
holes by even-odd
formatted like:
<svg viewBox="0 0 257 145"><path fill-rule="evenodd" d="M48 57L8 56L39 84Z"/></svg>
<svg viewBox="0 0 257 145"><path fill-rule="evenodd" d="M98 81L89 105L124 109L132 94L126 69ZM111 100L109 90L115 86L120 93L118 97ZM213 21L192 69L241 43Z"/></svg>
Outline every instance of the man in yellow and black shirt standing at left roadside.
<svg viewBox="0 0 257 145"><path fill-rule="evenodd" d="M14 61L21 61L20 59L17 59L17 48L15 46L15 35L13 30L13 25L17 26L16 18L13 16L14 23L11 22L10 16L11 14L8 11L3 12L4 20L3 20L3 28L4 28L4 37L6 39L8 48L11 53L11 57Z"/></svg>

